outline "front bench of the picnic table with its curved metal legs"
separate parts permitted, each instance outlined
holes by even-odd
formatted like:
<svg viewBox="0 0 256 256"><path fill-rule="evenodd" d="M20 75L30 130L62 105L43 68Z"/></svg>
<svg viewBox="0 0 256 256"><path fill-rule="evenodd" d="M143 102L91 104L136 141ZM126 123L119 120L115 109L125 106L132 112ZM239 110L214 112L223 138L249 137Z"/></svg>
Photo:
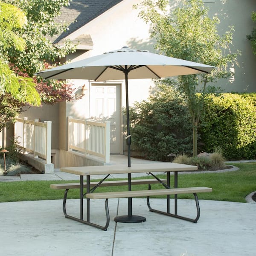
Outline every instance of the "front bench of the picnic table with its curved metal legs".
<svg viewBox="0 0 256 256"><path fill-rule="evenodd" d="M86 194L87 198L90 199L106 199L105 200L105 210L106 210L106 225L102 227L102 230L107 230L110 221L109 209L108 209L108 199L109 198L129 198L129 197L143 197L147 196L147 205L151 212L158 212L164 215L169 215L175 218L180 218L186 221L192 221L197 223L200 217L200 207L197 193L199 192L212 192L212 188L208 187L187 187L187 188L175 188L175 189L153 189L149 185L149 190L134 190L134 191L122 191L122 192L102 192L102 193L88 193ZM152 195L178 195L178 194L189 194L192 193L195 197L195 204L197 208L197 216L195 219L187 218L177 214L172 214L169 211L163 212L157 209L152 209L149 204L149 197ZM121 221L119 221L121 222Z"/></svg>

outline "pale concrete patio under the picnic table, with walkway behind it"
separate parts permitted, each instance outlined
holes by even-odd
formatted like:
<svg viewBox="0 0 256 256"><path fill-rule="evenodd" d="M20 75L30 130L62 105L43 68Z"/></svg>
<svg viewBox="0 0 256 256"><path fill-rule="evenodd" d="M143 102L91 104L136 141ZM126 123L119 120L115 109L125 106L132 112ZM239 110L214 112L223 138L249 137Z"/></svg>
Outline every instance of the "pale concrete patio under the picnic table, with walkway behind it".
<svg viewBox="0 0 256 256"><path fill-rule="evenodd" d="M117 162L125 164L126 160L120 157ZM134 162L140 160L132 159ZM45 175L1 176L1 181L71 179L74 175L59 170ZM127 199L110 199L107 231L64 218L62 200L0 203L0 255L254 256L256 203L198 197L201 216L197 224L149 212L146 200L141 198L133 199L133 213L146 217L146 222L116 224L116 215L127 214ZM92 200L91 205L91 221L104 224L104 201ZM152 199L151 206L165 209L166 200ZM67 212L79 215L79 200L68 201ZM195 217L195 202L178 200L178 214Z"/></svg>

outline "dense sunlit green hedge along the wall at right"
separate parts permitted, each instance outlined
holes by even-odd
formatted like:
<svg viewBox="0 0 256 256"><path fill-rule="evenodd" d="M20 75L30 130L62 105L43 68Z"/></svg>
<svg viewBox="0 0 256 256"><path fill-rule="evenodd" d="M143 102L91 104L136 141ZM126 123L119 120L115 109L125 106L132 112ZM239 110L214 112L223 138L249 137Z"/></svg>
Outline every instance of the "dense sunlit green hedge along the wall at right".
<svg viewBox="0 0 256 256"><path fill-rule="evenodd" d="M203 151L223 149L227 160L256 157L256 94L209 96L199 129Z"/></svg>

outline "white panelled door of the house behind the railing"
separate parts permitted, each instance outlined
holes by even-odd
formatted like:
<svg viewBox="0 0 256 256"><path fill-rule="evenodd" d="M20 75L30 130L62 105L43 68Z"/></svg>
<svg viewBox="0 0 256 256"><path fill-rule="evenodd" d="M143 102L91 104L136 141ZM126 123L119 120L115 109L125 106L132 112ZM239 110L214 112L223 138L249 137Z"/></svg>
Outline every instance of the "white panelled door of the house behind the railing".
<svg viewBox="0 0 256 256"><path fill-rule="evenodd" d="M120 153L121 137L121 85L91 84L90 119L95 122L111 122L110 153Z"/></svg>

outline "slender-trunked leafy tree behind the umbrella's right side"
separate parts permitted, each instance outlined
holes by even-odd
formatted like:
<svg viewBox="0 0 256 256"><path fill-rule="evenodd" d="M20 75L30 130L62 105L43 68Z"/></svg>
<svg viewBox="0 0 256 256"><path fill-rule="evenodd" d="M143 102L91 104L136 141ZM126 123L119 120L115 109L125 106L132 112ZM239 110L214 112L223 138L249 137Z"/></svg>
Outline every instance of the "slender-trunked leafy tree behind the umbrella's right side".
<svg viewBox="0 0 256 256"><path fill-rule="evenodd" d="M207 93L216 92L208 86L233 73L228 64L236 61L239 52L231 53L233 28L218 35L217 17L210 19L202 0L184 0L183 6L168 13L168 0L144 0L140 17L151 23L150 35L156 40L155 49L167 56L200 62L217 67L211 74L179 76L177 86L186 98L193 124L193 155L197 155L197 129L203 114ZM138 8L139 6L135 6ZM169 79L169 84L173 80ZM200 92L200 93L199 93Z"/></svg>

